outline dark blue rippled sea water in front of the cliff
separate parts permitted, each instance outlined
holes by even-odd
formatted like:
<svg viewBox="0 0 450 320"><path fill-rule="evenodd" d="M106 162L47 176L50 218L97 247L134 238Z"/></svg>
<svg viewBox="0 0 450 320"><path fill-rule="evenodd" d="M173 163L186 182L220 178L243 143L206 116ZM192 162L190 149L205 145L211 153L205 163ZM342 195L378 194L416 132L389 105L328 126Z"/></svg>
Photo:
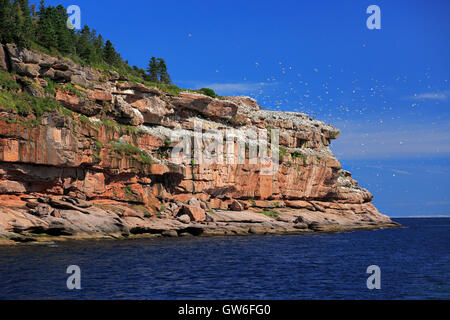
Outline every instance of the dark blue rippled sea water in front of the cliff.
<svg viewBox="0 0 450 320"><path fill-rule="evenodd" d="M404 228L0 247L0 299L449 299L450 219L395 220ZM81 290L67 289L69 265Z"/></svg>

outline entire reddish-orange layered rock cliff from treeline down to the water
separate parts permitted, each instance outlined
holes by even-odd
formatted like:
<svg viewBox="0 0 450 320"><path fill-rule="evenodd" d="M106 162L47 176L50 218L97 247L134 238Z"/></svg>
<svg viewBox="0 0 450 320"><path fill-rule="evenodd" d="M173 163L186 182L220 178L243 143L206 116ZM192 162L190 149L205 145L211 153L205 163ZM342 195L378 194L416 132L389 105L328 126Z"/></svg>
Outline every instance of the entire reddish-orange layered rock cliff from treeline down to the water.
<svg viewBox="0 0 450 320"><path fill-rule="evenodd" d="M339 130L305 114L265 111L249 97L172 95L13 44L0 46L0 69L65 108L24 116L0 105L0 238L395 225L331 153ZM195 140L199 124L203 132L277 129L279 167L261 174L251 148L243 163L177 163L173 148Z"/></svg>

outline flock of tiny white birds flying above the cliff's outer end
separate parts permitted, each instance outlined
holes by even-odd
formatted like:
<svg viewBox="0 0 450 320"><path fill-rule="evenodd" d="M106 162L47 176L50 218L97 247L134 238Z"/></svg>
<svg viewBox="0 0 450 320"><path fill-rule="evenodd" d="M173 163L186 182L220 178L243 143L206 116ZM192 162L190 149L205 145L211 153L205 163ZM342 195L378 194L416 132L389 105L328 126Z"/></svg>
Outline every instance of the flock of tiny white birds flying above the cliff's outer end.
<svg viewBox="0 0 450 320"><path fill-rule="evenodd" d="M434 89L430 68L425 71L423 79L415 80L415 85L410 86L410 82L414 80L409 79L407 75L398 75L384 81L375 77L361 77L356 72L349 74L342 68L328 65L324 69L311 70L318 75L315 78L321 79L318 86L317 80L308 81L302 73L296 72L294 67L286 66L282 62L278 64L279 74L266 76L251 96L266 109L302 112L323 120L341 121L372 113L376 116L370 117L370 121L377 118L376 121L383 124L386 118L395 120L401 117L401 114L392 112L397 103L393 98L398 99L393 95L393 88L420 86L424 91ZM256 62L255 67L259 69L261 65ZM247 81L247 78L244 77L243 80ZM448 80L444 80L441 85L446 87ZM421 92L415 92L402 97L401 100L405 100L404 103L408 103L414 111L421 105L430 103L428 98L433 96L424 97ZM432 100L432 103L441 103L439 96Z"/></svg>

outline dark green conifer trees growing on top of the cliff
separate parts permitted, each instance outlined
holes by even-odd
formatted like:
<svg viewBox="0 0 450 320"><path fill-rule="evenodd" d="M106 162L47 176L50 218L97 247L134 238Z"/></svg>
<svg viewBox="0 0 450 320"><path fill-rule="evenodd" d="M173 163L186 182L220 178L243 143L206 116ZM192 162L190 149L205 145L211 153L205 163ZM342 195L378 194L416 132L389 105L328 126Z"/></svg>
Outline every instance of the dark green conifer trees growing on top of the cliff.
<svg viewBox="0 0 450 320"><path fill-rule="evenodd" d="M30 6L28 0L0 0L0 42L16 43L25 48L37 44L84 64L106 65L145 81L172 83L164 59L152 57L147 72L130 67L110 40L105 42L101 34L86 25L80 31L68 28L68 18L62 5L46 6L44 0L38 8L34 4Z"/></svg>

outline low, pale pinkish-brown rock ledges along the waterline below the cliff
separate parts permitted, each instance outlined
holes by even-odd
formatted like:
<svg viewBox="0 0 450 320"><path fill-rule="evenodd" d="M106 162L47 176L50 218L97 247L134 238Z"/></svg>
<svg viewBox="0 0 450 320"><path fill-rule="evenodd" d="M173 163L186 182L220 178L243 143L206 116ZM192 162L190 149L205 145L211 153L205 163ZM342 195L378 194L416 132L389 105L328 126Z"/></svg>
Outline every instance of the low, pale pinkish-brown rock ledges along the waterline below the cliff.
<svg viewBox="0 0 450 320"><path fill-rule="evenodd" d="M27 199L28 202L25 202L36 203L34 200ZM193 218L184 212L190 212L193 208L202 209L187 205L180 210L181 215L146 219L139 209L121 203L89 203L86 208L86 202L73 204L76 201L65 198L51 200L48 204L38 202L28 211L17 209L16 205L0 207L0 245L99 238L299 235L400 226L379 214L318 215L316 211L292 208L280 209L274 217L254 211L216 211L206 214L210 219L198 221L196 215ZM5 224L10 224L12 228L6 231Z"/></svg>

